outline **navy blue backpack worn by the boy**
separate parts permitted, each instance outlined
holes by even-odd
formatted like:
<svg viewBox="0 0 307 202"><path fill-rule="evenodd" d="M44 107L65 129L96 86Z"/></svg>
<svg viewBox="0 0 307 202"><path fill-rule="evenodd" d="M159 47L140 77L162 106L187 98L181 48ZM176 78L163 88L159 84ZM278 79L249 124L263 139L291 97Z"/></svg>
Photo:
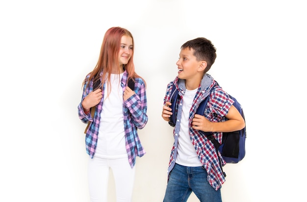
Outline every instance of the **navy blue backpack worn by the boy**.
<svg viewBox="0 0 307 202"><path fill-rule="evenodd" d="M213 87L214 88L214 87ZM204 101L202 101L199 105L199 107L196 110L196 114L200 114L202 116L204 116L204 112L205 112L205 106L209 100L209 97L212 93L213 88L211 88L211 91L209 93L209 95L205 98ZM230 95L229 95L230 96ZM171 104L171 108L172 108L172 112L173 115L170 117L170 121L169 121L169 125L170 126L175 126L176 125L176 103L177 103L177 99L178 99L178 90L175 87L175 84L173 84L173 88L172 88L172 92L171 92L171 98L170 98L170 102ZM245 117L244 117L244 113L243 113L243 109L241 104L232 96L230 96L230 98L234 101L233 106L235 108L237 108L237 110L240 112L241 116L243 117L244 121L245 121ZM241 130L237 130L237 131L233 131L233 132L223 132L223 137L222 137L222 144L220 144L214 137L212 132L204 132L199 130L200 133L204 134L214 145L216 152L220 151L223 159L226 161L226 163L238 163L239 161L241 161L244 156L245 156L245 139L246 139L246 126L241 129ZM220 159L220 166L222 169L222 162ZM222 169L223 170L223 169ZM224 176L226 177L226 174L223 172Z"/></svg>

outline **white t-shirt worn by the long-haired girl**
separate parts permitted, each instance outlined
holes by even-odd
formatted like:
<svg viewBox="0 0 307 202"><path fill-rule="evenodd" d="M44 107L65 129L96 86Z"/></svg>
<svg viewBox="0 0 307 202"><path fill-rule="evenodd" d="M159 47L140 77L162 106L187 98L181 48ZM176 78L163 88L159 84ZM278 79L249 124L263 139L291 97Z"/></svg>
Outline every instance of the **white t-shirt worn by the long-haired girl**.
<svg viewBox="0 0 307 202"><path fill-rule="evenodd" d="M101 158L127 157L124 115L123 89L121 79L124 73L111 74L111 92L107 97L108 82L105 82L105 93L102 104L98 142L95 156Z"/></svg>

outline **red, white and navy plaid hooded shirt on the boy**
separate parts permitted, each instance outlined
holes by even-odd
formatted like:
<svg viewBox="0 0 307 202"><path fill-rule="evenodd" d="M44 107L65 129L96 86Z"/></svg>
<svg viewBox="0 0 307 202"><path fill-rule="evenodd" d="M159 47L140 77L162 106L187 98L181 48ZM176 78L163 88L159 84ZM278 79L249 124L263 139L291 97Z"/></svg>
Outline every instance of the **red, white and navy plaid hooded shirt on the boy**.
<svg viewBox="0 0 307 202"><path fill-rule="evenodd" d="M164 97L164 104L166 101L170 100L173 83L175 83L175 87L179 90L180 99L178 99L177 101L177 108L175 113L177 114L177 123L180 123L182 105L180 105L179 103L182 103L182 96L185 92L184 80L181 80L176 77L174 81L168 84ZM208 182L215 190L218 190L225 182L225 177L223 176L222 169L220 168L218 156L215 151L214 145L205 136L201 135L198 130L194 130L192 128L192 119L196 113L196 110L199 104L205 100L205 97L208 96L210 89L214 86L214 84L216 84L216 81L214 81L214 79L210 75L206 74L203 77L201 85L198 88L190 110L189 133L191 142L196 149L199 159L208 173ZM229 95L225 91L223 91L220 86L215 86L205 108L204 116L211 122L225 121L225 116L227 115L228 110L230 109L230 106L232 104L233 101L230 99ZM179 129L180 124L176 124L176 126L174 127L175 142L171 151L168 175L174 168L176 162ZM222 142L222 132L214 132L213 136L220 143ZM221 159L223 159L220 152L218 153L218 155L221 157ZM223 160L222 165L224 166L225 164L226 162Z"/></svg>

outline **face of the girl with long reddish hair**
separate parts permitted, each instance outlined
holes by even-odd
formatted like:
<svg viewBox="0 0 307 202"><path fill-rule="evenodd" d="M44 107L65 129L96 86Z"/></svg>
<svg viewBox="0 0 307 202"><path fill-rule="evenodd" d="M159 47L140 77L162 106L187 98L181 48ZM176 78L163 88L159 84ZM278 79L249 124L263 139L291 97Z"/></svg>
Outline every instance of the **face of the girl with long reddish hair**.
<svg viewBox="0 0 307 202"><path fill-rule="evenodd" d="M121 39L121 47L118 51L118 62L119 65L126 65L132 55L132 38L130 36L124 35Z"/></svg>

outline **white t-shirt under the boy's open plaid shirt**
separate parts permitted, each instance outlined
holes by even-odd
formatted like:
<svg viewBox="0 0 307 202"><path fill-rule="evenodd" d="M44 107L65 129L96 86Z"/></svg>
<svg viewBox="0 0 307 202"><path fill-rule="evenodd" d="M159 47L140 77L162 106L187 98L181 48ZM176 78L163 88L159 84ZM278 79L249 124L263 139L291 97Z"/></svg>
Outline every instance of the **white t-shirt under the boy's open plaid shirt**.
<svg viewBox="0 0 307 202"><path fill-rule="evenodd" d="M189 115L197 89L186 90L182 97L182 114L176 163L189 167L202 166L189 135Z"/></svg>

